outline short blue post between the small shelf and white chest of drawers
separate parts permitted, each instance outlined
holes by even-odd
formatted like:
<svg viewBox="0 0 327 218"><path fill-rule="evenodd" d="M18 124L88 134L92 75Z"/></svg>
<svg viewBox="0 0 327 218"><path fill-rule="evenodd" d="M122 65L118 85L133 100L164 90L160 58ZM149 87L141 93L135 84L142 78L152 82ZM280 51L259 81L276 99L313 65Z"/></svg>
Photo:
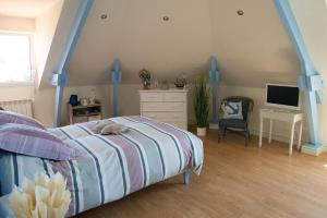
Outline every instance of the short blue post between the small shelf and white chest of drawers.
<svg viewBox="0 0 327 218"><path fill-rule="evenodd" d="M112 63L111 82L112 82L112 116L118 117L118 106L119 106L118 84L121 82L121 68L120 68L119 59L116 59Z"/></svg>

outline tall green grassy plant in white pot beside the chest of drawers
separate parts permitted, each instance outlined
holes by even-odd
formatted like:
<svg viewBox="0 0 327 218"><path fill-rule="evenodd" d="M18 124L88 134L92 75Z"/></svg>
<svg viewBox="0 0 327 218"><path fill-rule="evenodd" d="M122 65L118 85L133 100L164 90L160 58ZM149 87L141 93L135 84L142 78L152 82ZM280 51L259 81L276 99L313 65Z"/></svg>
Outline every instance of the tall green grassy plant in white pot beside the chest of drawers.
<svg viewBox="0 0 327 218"><path fill-rule="evenodd" d="M193 107L196 118L197 135L205 136L209 114L209 87L205 76L199 76L194 81Z"/></svg>

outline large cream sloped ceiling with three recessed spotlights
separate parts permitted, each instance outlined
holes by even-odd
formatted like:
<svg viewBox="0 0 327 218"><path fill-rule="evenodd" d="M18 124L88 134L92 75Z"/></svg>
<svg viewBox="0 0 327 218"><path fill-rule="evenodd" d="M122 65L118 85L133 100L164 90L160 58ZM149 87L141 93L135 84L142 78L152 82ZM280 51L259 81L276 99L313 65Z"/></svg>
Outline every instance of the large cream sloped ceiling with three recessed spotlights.
<svg viewBox="0 0 327 218"><path fill-rule="evenodd" d="M143 68L173 81L206 73L211 55L222 82L231 85L293 84L300 72L274 1L95 0L69 65L69 85L109 83L114 58L125 84L140 83Z"/></svg>

